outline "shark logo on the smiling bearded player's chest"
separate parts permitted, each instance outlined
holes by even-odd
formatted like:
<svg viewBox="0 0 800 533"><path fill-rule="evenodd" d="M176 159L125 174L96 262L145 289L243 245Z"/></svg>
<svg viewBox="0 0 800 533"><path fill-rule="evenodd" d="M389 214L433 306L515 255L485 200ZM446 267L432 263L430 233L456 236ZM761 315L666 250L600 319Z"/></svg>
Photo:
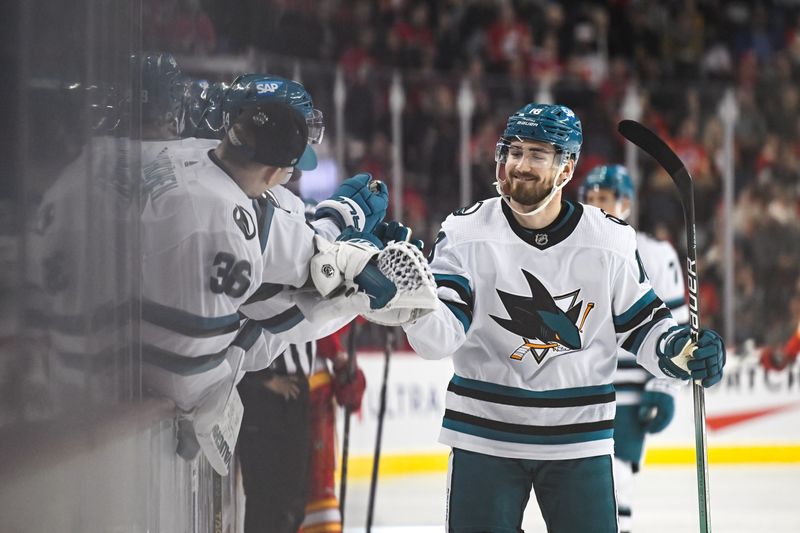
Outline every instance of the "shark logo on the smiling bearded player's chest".
<svg viewBox="0 0 800 533"><path fill-rule="evenodd" d="M589 302L586 305L583 318L578 325L583 309L583 300L577 301L580 289L560 296L551 296L533 274L526 270L522 273L528 282L531 295L520 296L495 289L511 318L489 315L504 329L522 337L522 344L511 354L511 359L521 361L530 352L536 362L541 364L550 350L555 352L579 350L582 346L583 325L589 311L594 308L594 303Z"/></svg>

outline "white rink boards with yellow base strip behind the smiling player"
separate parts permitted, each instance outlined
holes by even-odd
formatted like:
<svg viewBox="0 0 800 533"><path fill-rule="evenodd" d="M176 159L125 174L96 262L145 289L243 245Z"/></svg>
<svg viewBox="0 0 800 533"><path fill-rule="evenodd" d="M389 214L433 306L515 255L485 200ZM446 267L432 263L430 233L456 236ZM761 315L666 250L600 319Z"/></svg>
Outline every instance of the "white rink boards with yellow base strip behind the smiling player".
<svg viewBox="0 0 800 533"><path fill-rule="evenodd" d="M358 358L367 377L367 391L361 412L351 421L348 468L353 476L368 476L384 358L376 352L362 352ZM709 462L800 463L800 365L767 372L754 362L732 359L723 381L705 393ZM447 469L449 448L437 440L452 375L449 358L426 361L410 352L392 356L381 447L382 475ZM694 458L692 393L686 386L677 397L672 424L648 439L645 462L688 465Z"/></svg>

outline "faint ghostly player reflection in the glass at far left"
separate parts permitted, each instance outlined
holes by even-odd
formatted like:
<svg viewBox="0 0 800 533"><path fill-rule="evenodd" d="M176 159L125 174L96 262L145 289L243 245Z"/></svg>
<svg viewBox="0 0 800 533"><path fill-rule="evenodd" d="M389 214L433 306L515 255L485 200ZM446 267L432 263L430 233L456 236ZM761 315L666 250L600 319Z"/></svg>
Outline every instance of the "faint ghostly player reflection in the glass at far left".
<svg viewBox="0 0 800 533"><path fill-rule="evenodd" d="M58 413L75 401L119 397L112 373L130 363L123 298L136 271L127 260L131 243L121 236L137 225L130 174L136 144L125 136L117 88L65 83L51 97L74 118L59 125L70 148L53 147L66 158L39 191L26 228L26 364L33 382L23 388L51 387L42 407Z"/></svg>

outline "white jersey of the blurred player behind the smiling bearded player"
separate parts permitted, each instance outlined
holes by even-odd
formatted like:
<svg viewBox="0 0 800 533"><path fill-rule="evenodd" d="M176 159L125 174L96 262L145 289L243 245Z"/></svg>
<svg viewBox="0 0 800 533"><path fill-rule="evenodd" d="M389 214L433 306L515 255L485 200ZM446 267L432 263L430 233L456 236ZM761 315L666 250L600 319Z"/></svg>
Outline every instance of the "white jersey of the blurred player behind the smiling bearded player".
<svg viewBox="0 0 800 533"><path fill-rule="evenodd" d="M660 241L641 232L636 234L636 245L639 258L644 264L644 270L650 278L656 296L664 302L679 324L688 323L689 306L684 292L683 270L675 248L666 241ZM653 375L636 363L633 354L620 350L617 374L614 377L617 405L638 405L645 383L651 379ZM679 386L675 380L669 381L674 382L674 386L663 386L660 390L674 390Z"/></svg>

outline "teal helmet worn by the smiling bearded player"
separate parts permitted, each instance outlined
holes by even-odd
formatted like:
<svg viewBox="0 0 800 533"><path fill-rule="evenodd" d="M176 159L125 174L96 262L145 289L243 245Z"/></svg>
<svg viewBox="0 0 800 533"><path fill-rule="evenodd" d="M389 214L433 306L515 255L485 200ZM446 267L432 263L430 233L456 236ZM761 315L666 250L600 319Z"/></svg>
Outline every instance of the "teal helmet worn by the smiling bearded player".
<svg viewBox="0 0 800 533"><path fill-rule="evenodd" d="M552 144L561 155L561 165L576 162L583 143L581 121L563 105L530 103L508 117L503 136L497 141L495 161L505 163L514 140L532 140Z"/></svg>

